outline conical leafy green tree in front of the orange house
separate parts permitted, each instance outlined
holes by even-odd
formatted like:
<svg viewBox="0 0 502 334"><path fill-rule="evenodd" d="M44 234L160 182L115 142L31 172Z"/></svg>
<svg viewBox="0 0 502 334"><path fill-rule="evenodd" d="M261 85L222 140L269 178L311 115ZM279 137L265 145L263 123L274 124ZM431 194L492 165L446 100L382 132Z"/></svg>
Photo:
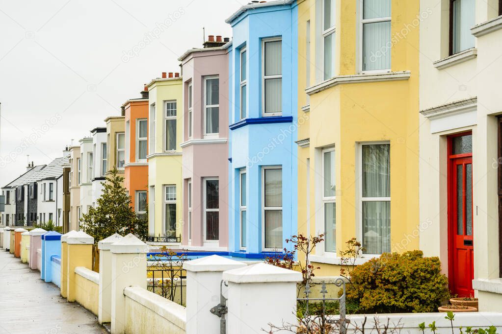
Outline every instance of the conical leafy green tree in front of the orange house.
<svg viewBox="0 0 502 334"><path fill-rule="evenodd" d="M101 182L103 192L97 199L96 206L90 207L80 220L82 230L93 236L98 242L113 233L126 235L133 233L145 239L148 232L148 217L140 218L136 215L131 203L131 196L126 193L121 183L123 177L118 175L115 167Z"/></svg>

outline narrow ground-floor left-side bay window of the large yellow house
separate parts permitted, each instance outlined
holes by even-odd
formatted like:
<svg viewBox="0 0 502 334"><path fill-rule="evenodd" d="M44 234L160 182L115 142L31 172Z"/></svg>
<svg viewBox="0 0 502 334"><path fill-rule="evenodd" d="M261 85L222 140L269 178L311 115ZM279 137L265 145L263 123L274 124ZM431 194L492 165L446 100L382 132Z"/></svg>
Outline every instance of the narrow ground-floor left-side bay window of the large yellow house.
<svg viewBox="0 0 502 334"><path fill-rule="evenodd" d="M333 148L322 152L322 202L324 206L324 251L336 252L335 220L335 151Z"/></svg>

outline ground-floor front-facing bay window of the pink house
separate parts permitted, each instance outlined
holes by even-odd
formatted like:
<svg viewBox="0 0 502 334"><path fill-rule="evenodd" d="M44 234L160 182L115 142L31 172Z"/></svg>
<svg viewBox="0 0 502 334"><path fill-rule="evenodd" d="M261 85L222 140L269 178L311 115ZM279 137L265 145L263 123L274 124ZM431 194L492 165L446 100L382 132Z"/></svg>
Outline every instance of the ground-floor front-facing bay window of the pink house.
<svg viewBox="0 0 502 334"><path fill-rule="evenodd" d="M217 178L204 178L204 241L219 239L219 181Z"/></svg>

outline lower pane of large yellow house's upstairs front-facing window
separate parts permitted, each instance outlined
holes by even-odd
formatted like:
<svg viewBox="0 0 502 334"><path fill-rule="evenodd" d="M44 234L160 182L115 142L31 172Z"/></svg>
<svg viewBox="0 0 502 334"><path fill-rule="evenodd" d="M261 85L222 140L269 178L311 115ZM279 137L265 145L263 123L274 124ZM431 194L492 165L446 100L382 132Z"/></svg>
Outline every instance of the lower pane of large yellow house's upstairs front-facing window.
<svg viewBox="0 0 502 334"><path fill-rule="evenodd" d="M391 22L362 25L362 69L365 71L391 68Z"/></svg>

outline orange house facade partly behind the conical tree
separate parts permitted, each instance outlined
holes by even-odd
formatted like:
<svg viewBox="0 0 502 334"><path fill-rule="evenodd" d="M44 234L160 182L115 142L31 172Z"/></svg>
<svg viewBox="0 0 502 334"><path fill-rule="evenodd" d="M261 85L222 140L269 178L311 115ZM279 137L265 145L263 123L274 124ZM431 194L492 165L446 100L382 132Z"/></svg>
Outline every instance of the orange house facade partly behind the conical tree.
<svg viewBox="0 0 502 334"><path fill-rule="evenodd" d="M148 202L148 91L140 99L122 105L126 122L126 187L137 214L145 214Z"/></svg>

